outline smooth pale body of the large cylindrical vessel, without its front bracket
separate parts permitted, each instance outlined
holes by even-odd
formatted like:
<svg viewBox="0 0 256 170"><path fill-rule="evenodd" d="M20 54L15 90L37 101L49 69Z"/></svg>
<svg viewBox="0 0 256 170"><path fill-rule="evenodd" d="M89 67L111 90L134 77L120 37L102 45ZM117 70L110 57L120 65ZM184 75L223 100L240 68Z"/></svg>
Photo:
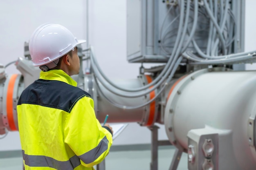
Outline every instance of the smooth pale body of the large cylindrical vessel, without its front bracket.
<svg viewBox="0 0 256 170"><path fill-rule="evenodd" d="M248 120L255 108L255 71L197 71L173 87L165 110L166 133L172 144L186 150L189 130L231 130L233 150L226 152L235 155L241 169L251 170L256 159L249 145Z"/></svg>

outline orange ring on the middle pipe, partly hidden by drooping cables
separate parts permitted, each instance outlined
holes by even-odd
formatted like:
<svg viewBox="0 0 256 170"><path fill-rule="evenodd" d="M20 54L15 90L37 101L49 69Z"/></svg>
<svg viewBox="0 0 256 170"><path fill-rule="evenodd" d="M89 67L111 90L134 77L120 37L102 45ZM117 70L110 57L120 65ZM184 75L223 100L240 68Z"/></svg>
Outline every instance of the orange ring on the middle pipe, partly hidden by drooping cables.
<svg viewBox="0 0 256 170"><path fill-rule="evenodd" d="M152 78L149 75L145 75L145 76L148 81L148 84L152 82ZM150 88L153 88L153 86L151 86ZM150 100L153 99L155 97L155 91L150 92L149 97L150 97ZM150 103L148 122L146 123L146 126L150 126L153 124L154 117L155 117L155 101Z"/></svg>

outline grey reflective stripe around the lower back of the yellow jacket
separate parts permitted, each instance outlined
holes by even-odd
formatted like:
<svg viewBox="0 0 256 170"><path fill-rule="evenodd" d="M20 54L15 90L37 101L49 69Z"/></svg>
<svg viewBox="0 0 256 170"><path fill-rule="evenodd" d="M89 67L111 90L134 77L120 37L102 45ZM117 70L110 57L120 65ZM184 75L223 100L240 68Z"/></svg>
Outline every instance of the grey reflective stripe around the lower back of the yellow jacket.
<svg viewBox="0 0 256 170"><path fill-rule="evenodd" d="M22 150L23 159L25 164L30 167L50 167L56 170L73 170L81 164L79 157L76 155L68 161L58 161L51 157L41 155L27 155Z"/></svg>

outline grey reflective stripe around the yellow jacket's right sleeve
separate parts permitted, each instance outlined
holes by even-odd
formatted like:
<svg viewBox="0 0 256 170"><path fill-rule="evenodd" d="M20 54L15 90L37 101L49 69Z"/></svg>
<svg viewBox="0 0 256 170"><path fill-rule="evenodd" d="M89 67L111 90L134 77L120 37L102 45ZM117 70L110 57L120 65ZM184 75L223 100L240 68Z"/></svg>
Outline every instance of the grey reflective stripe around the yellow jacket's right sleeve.
<svg viewBox="0 0 256 170"><path fill-rule="evenodd" d="M83 155L80 155L79 158L86 164L94 162L103 152L108 150L108 139L107 137L103 137L101 139L99 145L96 148L93 148L92 150L84 153Z"/></svg>

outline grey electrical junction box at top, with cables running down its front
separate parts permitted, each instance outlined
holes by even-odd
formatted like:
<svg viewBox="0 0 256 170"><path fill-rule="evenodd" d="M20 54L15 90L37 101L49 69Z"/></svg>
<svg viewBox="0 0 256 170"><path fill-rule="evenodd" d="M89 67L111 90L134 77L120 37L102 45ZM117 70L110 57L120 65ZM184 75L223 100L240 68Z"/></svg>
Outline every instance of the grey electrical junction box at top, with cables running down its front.
<svg viewBox="0 0 256 170"><path fill-rule="evenodd" d="M177 3L180 2L177 0L127 0L128 62L168 61L168 57L174 50L179 30L181 4L177 5ZM198 0L198 21L193 38L201 51L206 53L209 38L211 41L216 41L218 33L214 26L211 29L213 33L210 33L211 20L203 2L203 0ZM221 24L222 18L225 18L225 16L220 16L225 11L225 1L222 1L222 5L219 4L220 2L216 1L218 3L216 4L218 7L216 8L218 9L217 13L212 11L217 18L216 22L219 24ZM187 1L184 0L184 3L184 11L186 11ZM215 5L215 1L212 3L212 5ZM223 7L223 9L220 9L220 7ZM227 52L228 54L243 52L245 1L231 0L228 3L228 8L225 28L223 29L225 45L229 45ZM187 21L188 28L183 45L188 40L189 31L191 31L193 25L194 9L194 1L191 1L189 20ZM186 12L184 12L184 18L185 15ZM234 35L231 36L231 34ZM187 46L186 51L188 50L195 51L192 43ZM220 50L216 49L216 51Z"/></svg>

